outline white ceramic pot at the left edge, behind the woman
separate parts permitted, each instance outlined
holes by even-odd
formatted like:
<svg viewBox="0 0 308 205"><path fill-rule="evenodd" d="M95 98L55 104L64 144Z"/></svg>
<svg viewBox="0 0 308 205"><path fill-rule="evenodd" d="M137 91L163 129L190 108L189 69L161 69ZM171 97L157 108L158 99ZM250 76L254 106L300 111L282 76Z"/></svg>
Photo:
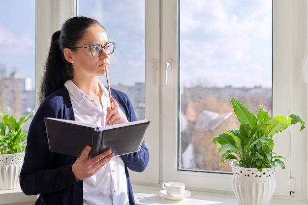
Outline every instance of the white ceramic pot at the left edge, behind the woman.
<svg viewBox="0 0 308 205"><path fill-rule="evenodd" d="M19 175L25 153L0 154L0 190L20 187Z"/></svg>

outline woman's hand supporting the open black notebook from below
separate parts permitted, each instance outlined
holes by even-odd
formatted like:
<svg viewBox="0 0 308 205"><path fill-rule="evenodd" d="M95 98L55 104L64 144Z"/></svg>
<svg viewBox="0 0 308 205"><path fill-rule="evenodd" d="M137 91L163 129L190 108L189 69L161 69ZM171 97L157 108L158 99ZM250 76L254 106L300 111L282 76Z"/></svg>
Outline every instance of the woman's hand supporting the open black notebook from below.
<svg viewBox="0 0 308 205"><path fill-rule="evenodd" d="M91 146L86 146L72 166L72 172L76 181L95 175L100 168L114 157L114 154L109 149L88 159L90 151Z"/></svg>

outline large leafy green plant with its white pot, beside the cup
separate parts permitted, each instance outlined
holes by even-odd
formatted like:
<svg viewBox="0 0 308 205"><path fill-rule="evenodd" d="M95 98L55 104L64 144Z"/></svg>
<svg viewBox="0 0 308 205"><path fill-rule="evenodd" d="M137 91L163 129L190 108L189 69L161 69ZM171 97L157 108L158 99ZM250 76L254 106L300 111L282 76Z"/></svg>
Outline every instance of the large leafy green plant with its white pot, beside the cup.
<svg viewBox="0 0 308 205"><path fill-rule="evenodd" d="M255 116L239 100L232 98L231 103L240 125L210 141L217 145L217 152L225 151L223 166L225 160L234 159L231 183L239 205L269 205L276 188L275 169L285 168L281 160L285 158L273 152L273 136L290 124L301 123L303 130L305 121L293 114L271 118L263 106Z"/></svg>

